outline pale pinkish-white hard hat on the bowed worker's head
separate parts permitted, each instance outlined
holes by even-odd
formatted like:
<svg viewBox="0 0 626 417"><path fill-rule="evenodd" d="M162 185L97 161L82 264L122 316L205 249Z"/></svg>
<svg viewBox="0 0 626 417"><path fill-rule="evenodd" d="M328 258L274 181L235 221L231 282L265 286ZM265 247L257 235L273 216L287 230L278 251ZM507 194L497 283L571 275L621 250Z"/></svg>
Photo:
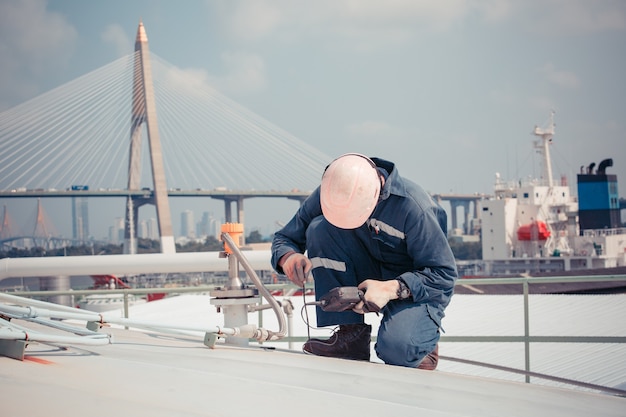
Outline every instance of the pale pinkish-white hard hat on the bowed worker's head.
<svg viewBox="0 0 626 417"><path fill-rule="evenodd" d="M336 227L355 229L372 214L379 194L376 164L365 155L345 154L324 171L320 186L322 213Z"/></svg>

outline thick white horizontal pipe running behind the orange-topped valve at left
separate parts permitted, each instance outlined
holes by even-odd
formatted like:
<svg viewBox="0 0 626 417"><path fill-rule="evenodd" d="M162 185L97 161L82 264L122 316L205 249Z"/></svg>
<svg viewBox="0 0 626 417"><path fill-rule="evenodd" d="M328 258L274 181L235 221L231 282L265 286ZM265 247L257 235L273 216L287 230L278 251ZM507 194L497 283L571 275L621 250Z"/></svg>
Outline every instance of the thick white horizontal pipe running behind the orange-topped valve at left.
<svg viewBox="0 0 626 417"><path fill-rule="evenodd" d="M51 275L150 274L227 271L220 252L150 253L140 255L64 256L0 259L0 280ZM268 250L246 251L251 268L271 270Z"/></svg>

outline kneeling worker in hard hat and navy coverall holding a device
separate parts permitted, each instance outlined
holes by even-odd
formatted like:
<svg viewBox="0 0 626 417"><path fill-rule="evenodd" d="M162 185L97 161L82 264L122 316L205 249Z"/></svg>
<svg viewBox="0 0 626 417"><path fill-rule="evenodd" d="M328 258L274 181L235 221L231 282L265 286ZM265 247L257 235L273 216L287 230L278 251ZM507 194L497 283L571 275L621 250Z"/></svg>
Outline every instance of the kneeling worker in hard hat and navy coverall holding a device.
<svg viewBox="0 0 626 417"><path fill-rule="evenodd" d="M358 286L381 309L375 351L387 364L435 369L441 319L457 278L445 211L392 162L346 154L272 242L272 265L316 297ZM304 253L308 255L305 256ZM371 326L364 305L317 308L317 325L339 325L329 339L309 339L307 353L369 360Z"/></svg>

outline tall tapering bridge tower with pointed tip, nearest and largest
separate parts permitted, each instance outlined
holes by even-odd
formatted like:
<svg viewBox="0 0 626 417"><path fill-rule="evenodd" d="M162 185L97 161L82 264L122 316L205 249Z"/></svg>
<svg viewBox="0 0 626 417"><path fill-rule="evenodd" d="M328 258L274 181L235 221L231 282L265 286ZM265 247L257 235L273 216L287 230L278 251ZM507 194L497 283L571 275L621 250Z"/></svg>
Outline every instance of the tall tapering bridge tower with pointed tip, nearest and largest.
<svg viewBox="0 0 626 417"><path fill-rule="evenodd" d="M152 69L148 50L148 37L143 23L139 22L135 40L135 63L133 79L133 107L131 115L130 157L128 167L128 190L139 190L141 183L141 138L142 125L146 124L154 194L150 201L135 201L127 198L126 221L124 227L124 253L137 253L137 217L139 206L151 203L156 206L157 223L161 237L161 252L174 253L174 233L172 216L167 195L167 183L163 165L163 151L157 124Z"/></svg>

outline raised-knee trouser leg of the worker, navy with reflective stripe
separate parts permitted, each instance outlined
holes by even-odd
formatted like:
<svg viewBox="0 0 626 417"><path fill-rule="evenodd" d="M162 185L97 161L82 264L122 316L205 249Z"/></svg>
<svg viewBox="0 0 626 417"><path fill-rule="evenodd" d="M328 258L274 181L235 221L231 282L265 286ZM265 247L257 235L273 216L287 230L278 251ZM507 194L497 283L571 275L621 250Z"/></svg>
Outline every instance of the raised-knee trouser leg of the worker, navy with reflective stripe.
<svg viewBox="0 0 626 417"><path fill-rule="evenodd" d="M332 226L320 216L307 229L307 255L313 263L315 296L335 287L357 286L360 282L380 276L379 268L360 235L364 230L344 230ZM353 311L326 312L317 308L317 325L363 323L363 315Z"/></svg>

